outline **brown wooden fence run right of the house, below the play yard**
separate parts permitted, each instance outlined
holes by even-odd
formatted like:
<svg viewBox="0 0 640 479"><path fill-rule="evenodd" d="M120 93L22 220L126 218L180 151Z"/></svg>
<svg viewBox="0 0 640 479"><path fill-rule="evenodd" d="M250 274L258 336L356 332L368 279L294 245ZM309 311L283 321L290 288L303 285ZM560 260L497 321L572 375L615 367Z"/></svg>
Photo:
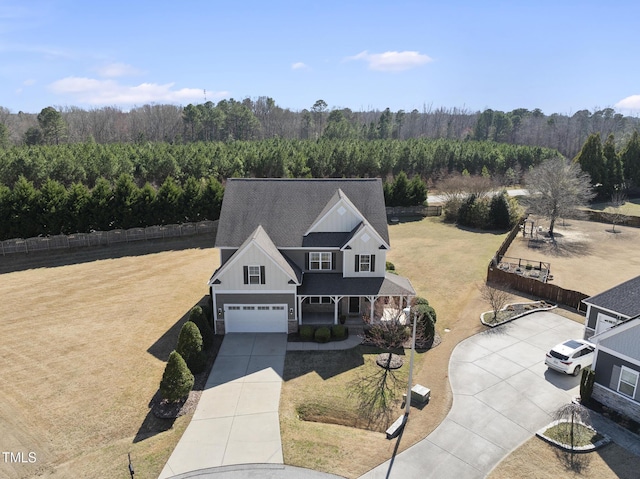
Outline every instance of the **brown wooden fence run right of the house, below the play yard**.
<svg viewBox="0 0 640 479"><path fill-rule="evenodd" d="M543 283L537 279L527 278L513 273L507 273L498 269L493 260L487 270L487 283L504 284L505 286L536 296L553 303L564 304L579 311L586 311L582 300L588 298L584 293L561 288L555 284Z"/></svg>

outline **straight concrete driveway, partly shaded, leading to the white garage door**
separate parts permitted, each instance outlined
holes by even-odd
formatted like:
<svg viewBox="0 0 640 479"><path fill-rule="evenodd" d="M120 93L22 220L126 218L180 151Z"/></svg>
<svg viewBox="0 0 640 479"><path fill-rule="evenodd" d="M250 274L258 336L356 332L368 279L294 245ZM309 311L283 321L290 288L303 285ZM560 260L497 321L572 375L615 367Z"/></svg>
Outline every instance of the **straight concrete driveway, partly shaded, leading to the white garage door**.
<svg viewBox="0 0 640 479"><path fill-rule="evenodd" d="M227 334L160 479L233 464L282 464L278 406L286 334Z"/></svg>

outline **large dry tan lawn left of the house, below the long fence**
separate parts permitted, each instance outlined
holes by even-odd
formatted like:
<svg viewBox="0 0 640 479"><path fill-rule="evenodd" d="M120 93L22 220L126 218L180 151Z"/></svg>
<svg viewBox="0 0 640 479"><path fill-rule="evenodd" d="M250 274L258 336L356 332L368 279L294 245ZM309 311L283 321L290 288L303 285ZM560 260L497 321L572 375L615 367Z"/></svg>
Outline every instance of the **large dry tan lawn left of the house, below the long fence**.
<svg viewBox="0 0 640 479"><path fill-rule="evenodd" d="M129 452L136 479L158 476L190 417L158 433L148 403L183 316L207 294L212 243L66 253L47 268L3 258L16 271L0 275L0 450L36 462L4 462L1 478L129 477Z"/></svg>

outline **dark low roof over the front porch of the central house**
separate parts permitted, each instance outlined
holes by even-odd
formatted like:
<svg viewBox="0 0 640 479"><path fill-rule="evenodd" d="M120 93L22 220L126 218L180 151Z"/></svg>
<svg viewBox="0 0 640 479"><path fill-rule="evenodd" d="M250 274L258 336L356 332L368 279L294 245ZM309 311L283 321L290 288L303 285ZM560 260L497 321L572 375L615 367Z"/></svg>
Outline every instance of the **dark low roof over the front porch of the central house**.
<svg viewBox="0 0 640 479"><path fill-rule="evenodd" d="M302 296L415 296L411 282L386 273L383 277L345 278L341 273L305 273L298 288Z"/></svg>

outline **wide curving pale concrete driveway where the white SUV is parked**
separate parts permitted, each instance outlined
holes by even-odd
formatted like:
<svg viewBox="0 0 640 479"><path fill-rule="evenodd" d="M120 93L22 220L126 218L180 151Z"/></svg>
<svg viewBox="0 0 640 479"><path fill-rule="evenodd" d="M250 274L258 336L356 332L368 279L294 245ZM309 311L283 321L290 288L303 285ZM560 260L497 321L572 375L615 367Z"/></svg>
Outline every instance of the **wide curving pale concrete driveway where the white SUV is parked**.
<svg viewBox="0 0 640 479"><path fill-rule="evenodd" d="M579 323L540 312L461 342L449 363L453 407L445 420L362 477L485 477L549 423L558 407L579 395L579 378L547 370L544 358L551 347L581 338L583 331Z"/></svg>

